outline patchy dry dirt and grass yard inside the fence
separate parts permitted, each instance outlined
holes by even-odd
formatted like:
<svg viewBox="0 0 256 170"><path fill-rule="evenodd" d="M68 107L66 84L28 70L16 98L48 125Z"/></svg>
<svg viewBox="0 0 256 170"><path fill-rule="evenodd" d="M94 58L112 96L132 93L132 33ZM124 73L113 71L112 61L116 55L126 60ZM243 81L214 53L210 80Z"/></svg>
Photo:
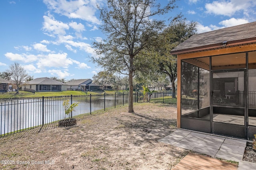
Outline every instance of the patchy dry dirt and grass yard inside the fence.
<svg viewBox="0 0 256 170"><path fill-rule="evenodd" d="M176 128L176 106L135 104L0 139L3 169L171 169L188 150L158 142ZM2 163L2 162L1 162Z"/></svg>

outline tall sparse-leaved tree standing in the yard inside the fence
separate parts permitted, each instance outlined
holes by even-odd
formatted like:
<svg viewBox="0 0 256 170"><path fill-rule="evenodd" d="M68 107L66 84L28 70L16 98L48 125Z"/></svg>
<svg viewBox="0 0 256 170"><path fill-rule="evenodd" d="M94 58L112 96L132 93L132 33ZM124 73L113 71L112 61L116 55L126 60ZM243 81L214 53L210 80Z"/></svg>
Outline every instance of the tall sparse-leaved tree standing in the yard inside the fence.
<svg viewBox="0 0 256 170"><path fill-rule="evenodd" d="M107 38L94 43L100 57L92 60L105 70L128 75L130 113L134 112L132 79L137 70L145 68L141 66L141 61L146 61L143 50L155 45L158 31L165 26L163 20L156 20L154 16L176 8L175 1L169 0L162 7L156 0L108 0L108 7L99 8L101 29Z"/></svg>

